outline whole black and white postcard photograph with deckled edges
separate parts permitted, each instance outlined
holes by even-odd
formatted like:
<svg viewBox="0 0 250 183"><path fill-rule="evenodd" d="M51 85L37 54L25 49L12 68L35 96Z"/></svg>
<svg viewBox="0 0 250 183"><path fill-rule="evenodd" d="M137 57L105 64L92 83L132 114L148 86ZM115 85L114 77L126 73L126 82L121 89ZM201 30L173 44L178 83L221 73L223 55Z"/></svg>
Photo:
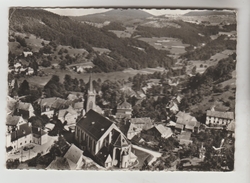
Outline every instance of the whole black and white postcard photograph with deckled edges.
<svg viewBox="0 0 250 183"><path fill-rule="evenodd" d="M234 171L237 13L10 7L6 169Z"/></svg>

